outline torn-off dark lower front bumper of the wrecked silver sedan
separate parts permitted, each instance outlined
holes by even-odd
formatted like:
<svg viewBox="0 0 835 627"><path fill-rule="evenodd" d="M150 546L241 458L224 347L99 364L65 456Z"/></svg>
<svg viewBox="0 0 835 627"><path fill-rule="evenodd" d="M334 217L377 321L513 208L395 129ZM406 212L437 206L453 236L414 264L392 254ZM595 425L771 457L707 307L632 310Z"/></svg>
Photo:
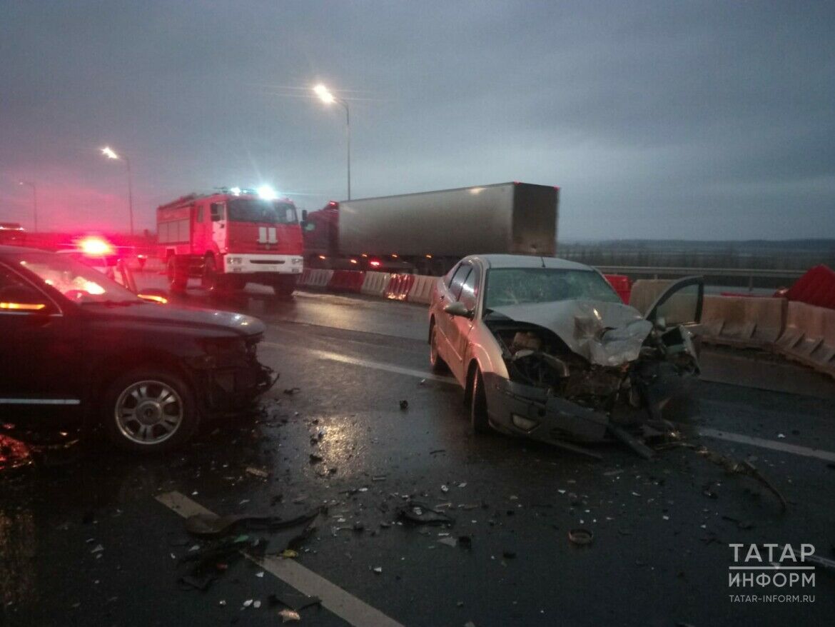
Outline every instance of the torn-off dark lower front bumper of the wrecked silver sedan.
<svg viewBox="0 0 835 627"><path fill-rule="evenodd" d="M562 446L566 441L605 441L609 416L550 395L548 390L484 373L488 418L504 433L527 436Z"/></svg>

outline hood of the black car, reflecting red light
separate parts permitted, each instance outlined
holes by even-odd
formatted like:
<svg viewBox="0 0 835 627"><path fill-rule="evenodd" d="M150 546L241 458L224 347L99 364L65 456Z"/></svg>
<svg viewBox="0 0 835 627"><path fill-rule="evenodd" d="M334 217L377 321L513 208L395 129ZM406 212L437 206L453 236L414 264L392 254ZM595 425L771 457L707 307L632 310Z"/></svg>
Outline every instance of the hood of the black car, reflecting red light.
<svg viewBox="0 0 835 627"><path fill-rule="evenodd" d="M265 329L261 320L245 314L172 304L136 303L124 306L87 303L81 305L81 308L88 314L124 322L225 331L243 337L261 334Z"/></svg>

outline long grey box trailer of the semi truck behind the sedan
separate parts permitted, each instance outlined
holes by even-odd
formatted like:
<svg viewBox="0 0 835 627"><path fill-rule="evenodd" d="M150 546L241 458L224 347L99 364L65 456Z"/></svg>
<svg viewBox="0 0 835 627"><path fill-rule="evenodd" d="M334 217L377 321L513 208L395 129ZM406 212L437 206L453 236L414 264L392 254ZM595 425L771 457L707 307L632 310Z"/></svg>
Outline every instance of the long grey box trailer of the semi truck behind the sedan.
<svg viewBox="0 0 835 627"><path fill-rule="evenodd" d="M553 257L559 187L513 182L331 201L302 212L308 268L440 275L470 254Z"/></svg>

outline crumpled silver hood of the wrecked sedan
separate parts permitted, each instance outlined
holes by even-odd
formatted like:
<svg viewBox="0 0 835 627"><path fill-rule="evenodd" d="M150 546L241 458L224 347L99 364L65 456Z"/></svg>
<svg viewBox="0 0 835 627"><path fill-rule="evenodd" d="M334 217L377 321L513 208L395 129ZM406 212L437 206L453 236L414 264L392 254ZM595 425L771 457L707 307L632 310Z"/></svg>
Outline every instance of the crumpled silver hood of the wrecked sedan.
<svg viewBox="0 0 835 627"><path fill-rule="evenodd" d="M493 309L517 322L536 324L592 364L619 366L638 359L652 323L637 309L600 300L507 305Z"/></svg>

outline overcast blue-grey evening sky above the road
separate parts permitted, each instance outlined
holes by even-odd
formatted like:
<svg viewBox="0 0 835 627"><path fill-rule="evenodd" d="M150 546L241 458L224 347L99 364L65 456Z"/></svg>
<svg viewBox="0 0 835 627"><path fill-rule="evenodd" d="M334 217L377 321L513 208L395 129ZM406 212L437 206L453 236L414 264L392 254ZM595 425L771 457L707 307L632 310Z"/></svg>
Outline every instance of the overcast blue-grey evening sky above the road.
<svg viewBox="0 0 835 627"><path fill-rule="evenodd" d="M560 186L559 237L835 237L835 3L0 0L0 220Z"/></svg>

